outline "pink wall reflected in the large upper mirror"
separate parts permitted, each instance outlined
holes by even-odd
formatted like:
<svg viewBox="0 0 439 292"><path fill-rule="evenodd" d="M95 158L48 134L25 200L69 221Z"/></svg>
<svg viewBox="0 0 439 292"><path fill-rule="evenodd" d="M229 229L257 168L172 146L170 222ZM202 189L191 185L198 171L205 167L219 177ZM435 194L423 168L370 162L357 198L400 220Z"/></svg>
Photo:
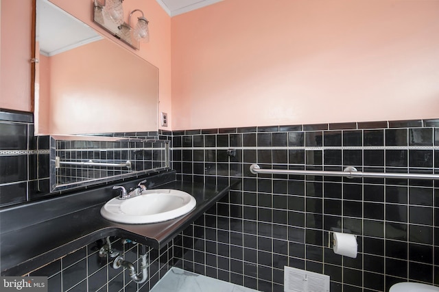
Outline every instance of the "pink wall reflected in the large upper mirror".
<svg viewBox="0 0 439 292"><path fill-rule="evenodd" d="M139 57L109 42L99 40L49 57L54 72L48 84L49 112L41 108L39 113L49 117L47 133L157 129L156 67L139 64Z"/></svg>

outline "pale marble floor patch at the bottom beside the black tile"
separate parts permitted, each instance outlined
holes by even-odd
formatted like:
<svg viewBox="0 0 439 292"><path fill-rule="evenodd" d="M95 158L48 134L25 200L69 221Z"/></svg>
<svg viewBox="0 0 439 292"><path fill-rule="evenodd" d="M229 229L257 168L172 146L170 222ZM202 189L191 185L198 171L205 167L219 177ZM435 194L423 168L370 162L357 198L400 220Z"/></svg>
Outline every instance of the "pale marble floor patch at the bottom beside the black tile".
<svg viewBox="0 0 439 292"><path fill-rule="evenodd" d="M151 292L256 292L256 290L172 267Z"/></svg>

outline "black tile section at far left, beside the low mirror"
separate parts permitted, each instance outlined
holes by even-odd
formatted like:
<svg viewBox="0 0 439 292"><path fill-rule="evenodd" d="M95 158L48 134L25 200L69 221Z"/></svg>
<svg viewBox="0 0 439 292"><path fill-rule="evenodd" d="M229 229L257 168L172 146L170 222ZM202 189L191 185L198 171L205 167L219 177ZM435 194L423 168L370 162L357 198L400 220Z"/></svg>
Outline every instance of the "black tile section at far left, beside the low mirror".
<svg viewBox="0 0 439 292"><path fill-rule="evenodd" d="M45 183L45 191L38 191ZM48 189L49 139L34 137L32 114L0 111L0 207L38 198Z"/></svg>

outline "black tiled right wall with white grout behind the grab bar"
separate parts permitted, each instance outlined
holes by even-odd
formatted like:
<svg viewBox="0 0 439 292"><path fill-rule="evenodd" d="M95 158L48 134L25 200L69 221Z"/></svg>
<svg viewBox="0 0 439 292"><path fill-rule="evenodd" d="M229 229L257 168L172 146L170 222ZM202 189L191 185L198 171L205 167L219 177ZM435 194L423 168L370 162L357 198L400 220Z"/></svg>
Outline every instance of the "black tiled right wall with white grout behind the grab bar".
<svg viewBox="0 0 439 292"><path fill-rule="evenodd" d="M331 291L388 291L407 280L439 285L436 182L249 171L258 163L434 173L435 127L410 120L173 132L180 178L238 181L174 241L176 265L260 291L283 291L285 265L331 276ZM236 155L223 156L230 148ZM333 253L331 230L357 235L357 258Z"/></svg>

